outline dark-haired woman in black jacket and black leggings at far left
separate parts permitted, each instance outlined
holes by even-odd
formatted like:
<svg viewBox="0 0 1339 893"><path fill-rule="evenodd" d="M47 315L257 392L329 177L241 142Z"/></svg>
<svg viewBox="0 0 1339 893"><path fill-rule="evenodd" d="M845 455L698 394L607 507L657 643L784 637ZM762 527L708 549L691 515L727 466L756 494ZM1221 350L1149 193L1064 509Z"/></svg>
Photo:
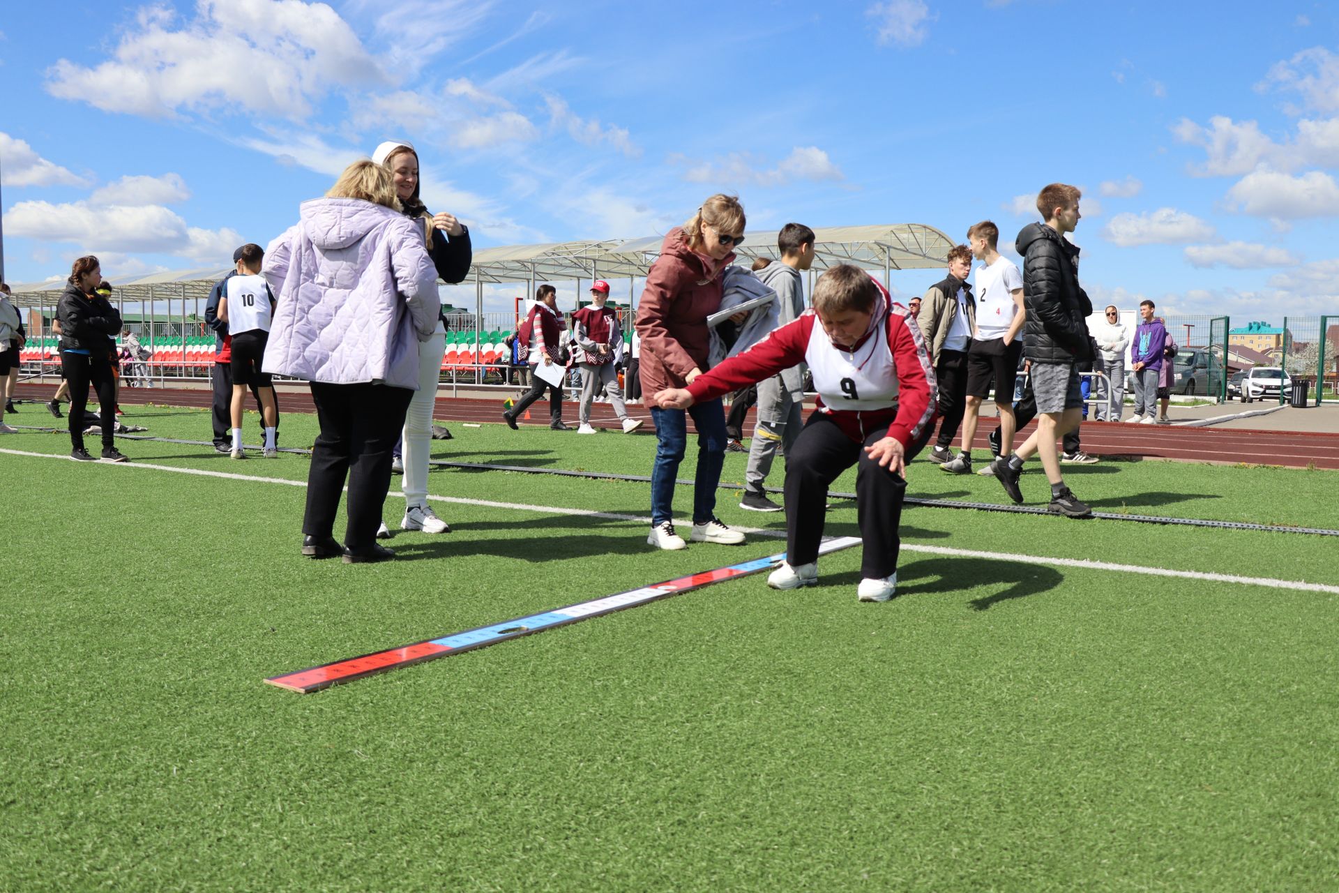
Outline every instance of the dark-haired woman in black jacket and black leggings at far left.
<svg viewBox="0 0 1339 893"><path fill-rule="evenodd" d="M70 280L60 295L56 319L60 320L60 361L70 383L70 458L91 462L83 446L84 407L88 386L98 388L102 407L102 458L126 462L116 449L116 383L111 375L108 339L121 332L121 313L107 299L95 292L102 282L102 269L94 256L80 257L70 269Z"/></svg>

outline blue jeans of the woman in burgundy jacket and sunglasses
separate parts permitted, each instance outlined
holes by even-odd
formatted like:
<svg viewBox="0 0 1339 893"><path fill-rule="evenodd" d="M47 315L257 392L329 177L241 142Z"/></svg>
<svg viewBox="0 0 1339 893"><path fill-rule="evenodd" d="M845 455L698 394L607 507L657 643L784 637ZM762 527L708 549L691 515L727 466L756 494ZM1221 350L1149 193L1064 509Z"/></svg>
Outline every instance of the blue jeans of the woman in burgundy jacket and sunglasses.
<svg viewBox="0 0 1339 893"><path fill-rule="evenodd" d="M651 408L656 426L656 463L651 469L651 523L674 521L674 485L688 447L688 415L698 427L698 474L692 482L692 521L706 523L716 513L716 485L726 462L726 411L720 398L687 411Z"/></svg>

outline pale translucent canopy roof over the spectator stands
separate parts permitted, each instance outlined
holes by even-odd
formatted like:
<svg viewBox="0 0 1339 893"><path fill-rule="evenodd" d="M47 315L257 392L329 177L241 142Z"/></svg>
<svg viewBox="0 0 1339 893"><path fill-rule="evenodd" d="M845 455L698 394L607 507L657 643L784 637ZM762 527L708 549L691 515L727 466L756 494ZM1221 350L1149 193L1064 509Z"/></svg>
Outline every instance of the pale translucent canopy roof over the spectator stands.
<svg viewBox="0 0 1339 893"><path fill-rule="evenodd" d="M953 240L924 224L877 226L825 226L814 230L814 266L856 264L866 269L927 269L943 266ZM660 253L663 236L645 238L548 242L542 245L502 245L474 252L470 280L474 282L542 282L608 277L640 277ZM777 234L747 232L736 249L740 258L777 258ZM130 281L114 281L121 300L193 300L209 296L214 282L229 273L224 269L189 269L153 273ZM64 282L15 285L13 303L20 307L55 305Z"/></svg>

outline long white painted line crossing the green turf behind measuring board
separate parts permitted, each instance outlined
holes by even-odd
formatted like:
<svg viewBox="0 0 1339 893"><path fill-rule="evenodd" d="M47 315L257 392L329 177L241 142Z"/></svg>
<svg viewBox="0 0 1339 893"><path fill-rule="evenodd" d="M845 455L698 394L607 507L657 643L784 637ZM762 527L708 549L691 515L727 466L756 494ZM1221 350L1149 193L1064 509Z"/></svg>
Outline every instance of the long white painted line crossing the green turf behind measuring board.
<svg viewBox="0 0 1339 893"><path fill-rule="evenodd" d="M25 450L0 450L0 454L8 455L23 455L32 457L36 459L60 459L63 462L74 462L74 459L64 455L55 455L51 453L29 453ZM264 459L262 459L264 461ZM174 474L194 474L205 478L224 478L228 481L249 481L256 483L283 483L291 487L305 487L305 481L287 481L284 478L262 478L252 474L234 474L230 471L208 471L205 469L179 469L170 465L153 465L147 462L99 462L99 465L114 465L118 469L147 469L151 471L171 471ZM403 497L404 494L392 490L387 495ZM466 499L462 497L437 497L428 495L428 499L435 502L446 502L454 505L470 505L487 509L509 509L513 511L534 511L540 514L562 514L582 518L608 518L611 521L635 521L640 523L649 525L649 515L636 515L636 514L621 514L615 511L592 511L590 509L568 509L564 506L540 506L528 505L522 502L495 502L493 499ZM763 530L759 527L735 527L743 533L751 533L763 537L777 537L783 538L786 534L779 530ZM1330 594L1339 594L1339 586L1332 586L1323 582L1306 582L1300 580L1273 580L1271 577L1239 577L1227 573L1206 573L1202 570L1170 570L1168 568L1145 568L1142 565L1122 565L1110 561L1089 561L1086 558L1051 558L1048 556L1026 556L1012 552L981 552L977 549L951 549L948 546L921 546L916 544L902 544L902 552L919 552L924 554L933 556L956 556L963 558L992 558L995 561L1011 561L1015 564L1043 564L1054 565L1058 568L1082 568L1085 570L1111 570L1115 573L1137 573L1150 577L1176 577L1181 580L1206 580L1210 582L1232 582L1245 586L1272 586L1275 589L1296 589L1302 592L1326 592Z"/></svg>

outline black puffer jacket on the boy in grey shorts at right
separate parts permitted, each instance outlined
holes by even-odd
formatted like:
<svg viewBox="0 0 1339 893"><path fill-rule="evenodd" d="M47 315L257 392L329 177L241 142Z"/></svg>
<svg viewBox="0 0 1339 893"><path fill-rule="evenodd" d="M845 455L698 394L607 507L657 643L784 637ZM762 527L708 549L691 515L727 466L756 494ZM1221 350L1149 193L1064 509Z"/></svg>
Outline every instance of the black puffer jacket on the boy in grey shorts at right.
<svg viewBox="0 0 1339 893"><path fill-rule="evenodd" d="M1093 359L1087 316L1093 301L1079 288L1078 245L1046 224L1028 224L1015 242L1023 256L1023 336L1034 363L1083 363Z"/></svg>

